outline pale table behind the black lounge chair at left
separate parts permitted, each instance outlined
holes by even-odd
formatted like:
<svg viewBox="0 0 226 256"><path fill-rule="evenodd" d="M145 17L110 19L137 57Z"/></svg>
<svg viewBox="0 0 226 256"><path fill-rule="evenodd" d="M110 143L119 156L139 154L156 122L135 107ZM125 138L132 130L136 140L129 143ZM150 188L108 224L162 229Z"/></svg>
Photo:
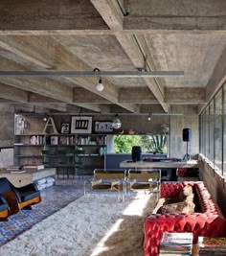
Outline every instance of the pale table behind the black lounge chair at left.
<svg viewBox="0 0 226 256"><path fill-rule="evenodd" d="M44 168L41 170L26 169L24 173L11 173L7 169L0 170L0 177L7 177L15 187L23 187L34 181L56 175L56 168Z"/></svg>

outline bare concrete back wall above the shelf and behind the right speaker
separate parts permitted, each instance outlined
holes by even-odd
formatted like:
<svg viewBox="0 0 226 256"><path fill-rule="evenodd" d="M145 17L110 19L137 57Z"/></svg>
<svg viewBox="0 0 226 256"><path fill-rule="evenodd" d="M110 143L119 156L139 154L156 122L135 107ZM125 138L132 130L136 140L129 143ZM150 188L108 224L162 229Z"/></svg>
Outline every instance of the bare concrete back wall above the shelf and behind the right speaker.
<svg viewBox="0 0 226 256"><path fill-rule="evenodd" d="M94 115L93 121L111 121L113 115ZM182 129L192 128L192 141L189 143L189 153L194 156L198 153L198 115L196 109L189 107L178 115L153 115L151 121L147 121L147 115L119 115L122 121L124 134L132 128L135 134L156 134L161 132L161 126L169 127L169 155L182 158L186 153L186 142L182 140ZM28 132L42 132L45 123L42 118L26 117ZM36 121L34 121L36 119ZM61 123L71 123L71 116L54 116L56 129L60 133ZM38 126L37 126L38 124ZM26 131L26 132L27 132Z"/></svg>

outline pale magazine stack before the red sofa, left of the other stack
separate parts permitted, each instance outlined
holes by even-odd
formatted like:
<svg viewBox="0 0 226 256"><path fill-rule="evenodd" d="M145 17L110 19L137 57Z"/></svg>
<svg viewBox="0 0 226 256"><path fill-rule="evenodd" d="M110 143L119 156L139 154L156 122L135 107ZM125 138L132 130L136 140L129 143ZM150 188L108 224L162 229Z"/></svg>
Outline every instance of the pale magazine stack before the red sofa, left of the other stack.
<svg viewBox="0 0 226 256"><path fill-rule="evenodd" d="M159 256L192 255L192 232L164 232L159 247Z"/></svg>

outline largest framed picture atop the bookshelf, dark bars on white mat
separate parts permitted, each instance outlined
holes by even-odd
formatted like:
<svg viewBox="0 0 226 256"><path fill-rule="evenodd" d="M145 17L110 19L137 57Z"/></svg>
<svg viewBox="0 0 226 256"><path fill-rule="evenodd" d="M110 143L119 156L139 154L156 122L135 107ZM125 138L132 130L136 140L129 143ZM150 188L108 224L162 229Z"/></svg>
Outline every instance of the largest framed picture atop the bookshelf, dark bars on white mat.
<svg viewBox="0 0 226 256"><path fill-rule="evenodd" d="M71 133L91 133L92 116L73 116Z"/></svg>

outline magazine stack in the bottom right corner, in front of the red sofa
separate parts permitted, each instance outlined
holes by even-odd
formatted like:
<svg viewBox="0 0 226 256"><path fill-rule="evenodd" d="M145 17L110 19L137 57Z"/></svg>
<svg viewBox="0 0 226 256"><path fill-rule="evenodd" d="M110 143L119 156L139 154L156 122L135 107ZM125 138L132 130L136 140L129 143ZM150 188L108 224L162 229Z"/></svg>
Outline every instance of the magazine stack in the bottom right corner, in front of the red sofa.
<svg viewBox="0 0 226 256"><path fill-rule="evenodd" d="M226 255L226 238L198 237L200 256Z"/></svg>

